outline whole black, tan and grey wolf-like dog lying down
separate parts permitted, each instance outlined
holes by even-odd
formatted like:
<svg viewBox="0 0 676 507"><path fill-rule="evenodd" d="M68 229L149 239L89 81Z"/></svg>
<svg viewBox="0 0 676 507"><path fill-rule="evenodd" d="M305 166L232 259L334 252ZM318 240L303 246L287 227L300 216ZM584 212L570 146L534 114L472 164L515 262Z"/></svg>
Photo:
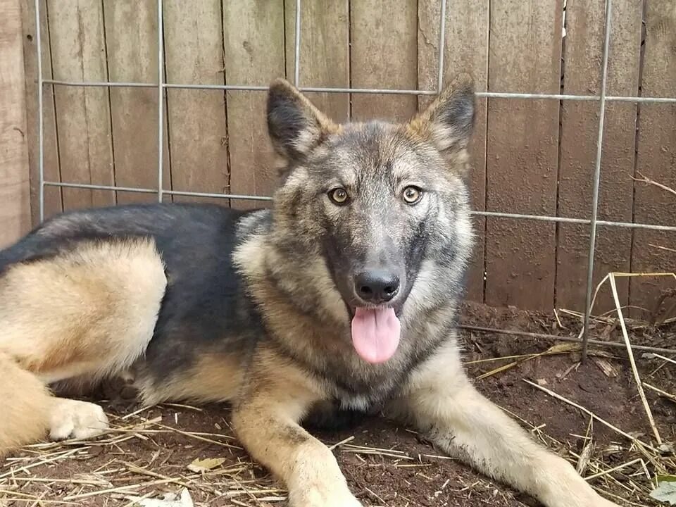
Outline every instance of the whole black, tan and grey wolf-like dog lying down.
<svg viewBox="0 0 676 507"><path fill-rule="evenodd" d="M315 411L382 411L547 507L612 507L479 394L456 322L472 252L458 77L407 123L337 124L276 80L270 208L148 204L57 215L0 252L0 451L90 437L54 382L130 374L144 403L232 403L292 507L353 507Z"/></svg>

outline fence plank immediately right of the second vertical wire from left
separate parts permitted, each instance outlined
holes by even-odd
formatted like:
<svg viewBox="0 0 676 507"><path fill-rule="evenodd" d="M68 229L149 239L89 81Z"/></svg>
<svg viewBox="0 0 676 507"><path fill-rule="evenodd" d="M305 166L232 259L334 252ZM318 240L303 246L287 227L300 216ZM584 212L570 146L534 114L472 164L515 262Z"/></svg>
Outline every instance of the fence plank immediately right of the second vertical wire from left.
<svg viewBox="0 0 676 507"><path fill-rule="evenodd" d="M223 84L220 0L164 3L167 81ZM168 140L175 190L228 193L227 124L223 91L168 89ZM175 201L225 199L174 196Z"/></svg>

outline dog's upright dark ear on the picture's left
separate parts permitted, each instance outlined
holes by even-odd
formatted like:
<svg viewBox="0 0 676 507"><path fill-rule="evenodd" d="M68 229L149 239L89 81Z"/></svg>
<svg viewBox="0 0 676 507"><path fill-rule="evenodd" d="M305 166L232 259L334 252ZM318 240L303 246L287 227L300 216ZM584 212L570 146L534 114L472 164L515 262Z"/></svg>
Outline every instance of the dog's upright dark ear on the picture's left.
<svg viewBox="0 0 676 507"><path fill-rule="evenodd" d="M287 161L305 157L338 126L289 82L278 79L268 92L268 134Z"/></svg>

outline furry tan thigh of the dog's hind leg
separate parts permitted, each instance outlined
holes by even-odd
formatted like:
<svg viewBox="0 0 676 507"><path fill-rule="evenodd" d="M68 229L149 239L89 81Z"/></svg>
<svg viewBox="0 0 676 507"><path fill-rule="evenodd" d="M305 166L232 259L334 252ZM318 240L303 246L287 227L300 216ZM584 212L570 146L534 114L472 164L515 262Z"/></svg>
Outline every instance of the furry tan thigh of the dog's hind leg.
<svg viewBox="0 0 676 507"><path fill-rule="evenodd" d="M13 265L0 277L0 351L46 384L117 373L150 342L165 287L150 239Z"/></svg>

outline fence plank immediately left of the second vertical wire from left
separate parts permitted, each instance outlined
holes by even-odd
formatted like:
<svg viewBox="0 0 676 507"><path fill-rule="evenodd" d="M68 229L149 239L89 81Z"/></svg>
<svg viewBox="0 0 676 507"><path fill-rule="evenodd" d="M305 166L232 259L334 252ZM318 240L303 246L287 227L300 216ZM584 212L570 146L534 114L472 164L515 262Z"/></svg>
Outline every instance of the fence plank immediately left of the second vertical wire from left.
<svg viewBox="0 0 676 507"><path fill-rule="evenodd" d="M104 2L108 74L117 82L158 82L157 2ZM157 188L156 88L111 89L115 184L119 187ZM166 119L166 115L165 115ZM166 125L163 125L163 184L171 187ZM118 203L156 201L155 194L118 192Z"/></svg>

